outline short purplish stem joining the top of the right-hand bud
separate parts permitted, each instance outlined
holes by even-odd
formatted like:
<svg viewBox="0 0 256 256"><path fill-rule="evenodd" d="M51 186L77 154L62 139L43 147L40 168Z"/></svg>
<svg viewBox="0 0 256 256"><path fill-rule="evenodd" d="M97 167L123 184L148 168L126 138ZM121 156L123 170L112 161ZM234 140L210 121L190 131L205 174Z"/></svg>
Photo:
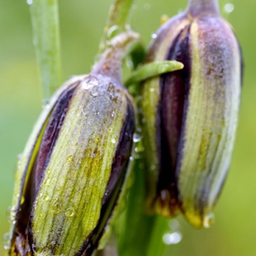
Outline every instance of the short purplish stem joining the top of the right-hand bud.
<svg viewBox="0 0 256 256"><path fill-rule="evenodd" d="M192 17L197 17L202 12L220 15L218 0L190 0L187 6L187 12Z"/></svg>

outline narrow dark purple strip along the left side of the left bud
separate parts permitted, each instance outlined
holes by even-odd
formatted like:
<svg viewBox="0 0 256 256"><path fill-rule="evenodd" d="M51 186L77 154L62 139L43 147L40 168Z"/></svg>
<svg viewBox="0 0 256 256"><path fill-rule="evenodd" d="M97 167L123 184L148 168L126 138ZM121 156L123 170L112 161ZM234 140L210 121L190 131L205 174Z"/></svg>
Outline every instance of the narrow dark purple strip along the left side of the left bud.
<svg viewBox="0 0 256 256"><path fill-rule="evenodd" d="M59 100L55 104L55 108L51 113L50 121L47 123L47 126L44 131L44 135L40 144L39 152L36 156L35 162L33 163L31 175L27 178L28 186L26 187L26 191L23 192L22 196L24 197L24 203L20 206L20 211L17 214L17 226L16 226L16 238L17 243L18 239L26 240L28 235L28 221L31 214L31 206L35 201L36 190L40 186L40 178L43 175L43 171L45 166L47 165L47 161L50 157L51 151L55 145L55 141L59 135L59 130L64 121L64 116L67 111L67 107L69 105L70 98L73 95L73 91L75 88L68 88L62 92L59 96ZM39 140L39 138L37 138ZM24 177L25 179L25 177ZM24 181L23 181L24 183ZM29 238L31 239L31 238ZM22 250L31 249L28 248L19 248L17 252L19 254L22 253Z"/></svg>

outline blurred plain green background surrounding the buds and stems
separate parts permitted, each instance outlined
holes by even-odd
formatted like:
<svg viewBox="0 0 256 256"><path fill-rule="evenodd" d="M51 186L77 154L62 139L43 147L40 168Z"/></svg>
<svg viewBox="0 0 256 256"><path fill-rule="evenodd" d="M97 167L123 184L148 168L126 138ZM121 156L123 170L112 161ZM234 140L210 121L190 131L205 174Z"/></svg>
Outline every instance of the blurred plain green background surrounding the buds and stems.
<svg viewBox="0 0 256 256"><path fill-rule="evenodd" d="M0 237L7 233L17 154L41 110L42 89L26 0L1 0L0 8ZM97 53L111 0L61 0L63 80L88 73ZM130 23L149 44L162 14L173 16L186 0L137 0ZM233 12L230 12L234 8ZM216 223L194 230L179 217L183 239L166 256L256 255L256 1L220 1L244 52L244 90L230 174L216 206ZM230 12L230 13L229 13ZM1 246L0 255L3 254ZM144 255L142 255L144 256Z"/></svg>

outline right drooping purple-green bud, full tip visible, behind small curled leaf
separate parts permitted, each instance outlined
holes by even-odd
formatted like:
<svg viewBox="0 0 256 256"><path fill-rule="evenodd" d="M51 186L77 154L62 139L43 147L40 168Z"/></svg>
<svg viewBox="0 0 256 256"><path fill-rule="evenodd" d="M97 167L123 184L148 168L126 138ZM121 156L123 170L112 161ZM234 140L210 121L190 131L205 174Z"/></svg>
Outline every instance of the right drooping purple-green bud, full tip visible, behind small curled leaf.
<svg viewBox="0 0 256 256"><path fill-rule="evenodd" d="M208 227L230 166L242 79L239 43L216 0L191 0L159 29L147 62L164 59L184 69L143 83L149 208Z"/></svg>

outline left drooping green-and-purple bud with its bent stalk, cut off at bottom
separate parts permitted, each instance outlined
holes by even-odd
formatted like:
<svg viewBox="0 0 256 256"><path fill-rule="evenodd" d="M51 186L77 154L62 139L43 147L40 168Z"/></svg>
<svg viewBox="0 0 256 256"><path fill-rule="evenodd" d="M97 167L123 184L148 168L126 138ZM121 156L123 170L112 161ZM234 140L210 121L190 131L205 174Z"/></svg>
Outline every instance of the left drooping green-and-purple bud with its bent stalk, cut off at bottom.
<svg viewBox="0 0 256 256"><path fill-rule="evenodd" d="M10 255L91 255L126 178L135 108L121 61L138 38L111 40L92 73L55 93L17 170Z"/></svg>

